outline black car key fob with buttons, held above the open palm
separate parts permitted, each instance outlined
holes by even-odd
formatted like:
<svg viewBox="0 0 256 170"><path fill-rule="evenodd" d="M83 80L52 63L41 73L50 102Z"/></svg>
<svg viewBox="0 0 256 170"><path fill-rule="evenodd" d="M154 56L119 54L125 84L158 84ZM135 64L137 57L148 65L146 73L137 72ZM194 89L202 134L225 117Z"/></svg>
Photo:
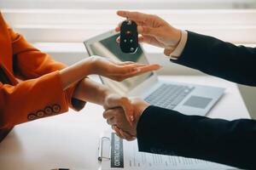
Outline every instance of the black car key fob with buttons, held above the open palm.
<svg viewBox="0 0 256 170"><path fill-rule="evenodd" d="M138 48L137 24L125 20L120 28L120 48L124 53L134 54Z"/></svg>

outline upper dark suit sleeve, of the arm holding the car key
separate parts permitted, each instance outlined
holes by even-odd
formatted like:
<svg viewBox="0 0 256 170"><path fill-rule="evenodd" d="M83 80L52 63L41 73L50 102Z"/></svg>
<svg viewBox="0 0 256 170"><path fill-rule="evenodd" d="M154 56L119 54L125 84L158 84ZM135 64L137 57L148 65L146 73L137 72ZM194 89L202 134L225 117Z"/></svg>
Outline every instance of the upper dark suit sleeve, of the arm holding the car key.
<svg viewBox="0 0 256 170"><path fill-rule="evenodd" d="M188 31L183 54L173 62L231 82L256 86L256 48L236 46Z"/></svg>

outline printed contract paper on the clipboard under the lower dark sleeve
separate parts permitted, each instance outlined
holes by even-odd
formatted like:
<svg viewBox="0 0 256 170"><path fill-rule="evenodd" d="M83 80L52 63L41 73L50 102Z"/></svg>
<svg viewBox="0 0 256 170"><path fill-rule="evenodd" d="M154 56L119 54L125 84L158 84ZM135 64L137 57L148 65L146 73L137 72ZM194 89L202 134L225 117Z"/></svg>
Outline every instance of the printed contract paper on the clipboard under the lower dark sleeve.
<svg viewBox="0 0 256 170"><path fill-rule="evenodd" d="M110 160L102 161L102 170L236 169L211 161L139 152L137 140L129 142L119 139L115 133L107 137Z"/></svg>

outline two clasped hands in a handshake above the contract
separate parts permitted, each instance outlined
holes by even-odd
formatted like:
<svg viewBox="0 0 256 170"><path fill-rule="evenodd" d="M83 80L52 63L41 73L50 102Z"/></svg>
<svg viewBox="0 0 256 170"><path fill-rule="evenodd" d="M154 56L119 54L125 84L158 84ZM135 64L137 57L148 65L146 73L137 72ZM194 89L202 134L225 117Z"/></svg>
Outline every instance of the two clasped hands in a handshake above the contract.
<svg viewBox="0 0 256 170"><path fill-rule="evenodd" d="M128 99L118 94L109 94L104 102L103 117L121 139L137 137L137 123L149 104L143 99Z"/></svg>

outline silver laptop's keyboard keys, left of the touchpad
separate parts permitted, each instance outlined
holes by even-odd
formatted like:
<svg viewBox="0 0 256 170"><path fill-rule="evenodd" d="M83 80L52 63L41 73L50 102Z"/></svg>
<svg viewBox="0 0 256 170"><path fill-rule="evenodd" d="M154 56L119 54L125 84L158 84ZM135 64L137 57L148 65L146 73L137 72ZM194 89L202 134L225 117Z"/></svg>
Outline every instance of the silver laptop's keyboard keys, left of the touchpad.
<svg viewBox="0 0 256 170"><path fill-rule="evenodd" d="M166 109L176 107L194 87L162 84L152 94L145 99L149 104L160 106Z"/></svg>

